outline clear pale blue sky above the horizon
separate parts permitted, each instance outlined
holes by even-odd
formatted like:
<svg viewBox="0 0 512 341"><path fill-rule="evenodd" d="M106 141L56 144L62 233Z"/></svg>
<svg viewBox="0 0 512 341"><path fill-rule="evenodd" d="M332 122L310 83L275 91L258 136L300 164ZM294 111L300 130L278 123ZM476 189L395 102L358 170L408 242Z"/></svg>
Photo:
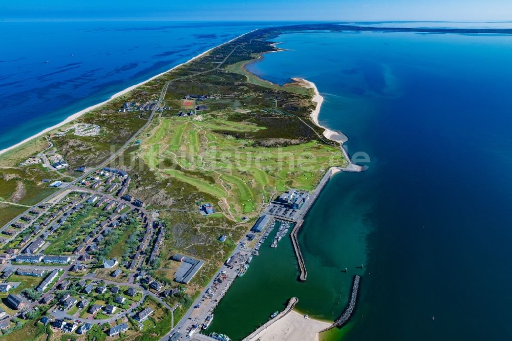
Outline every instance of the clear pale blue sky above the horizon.
<svg viewBox="0 0 512 341"><path fill-rule="evenodd" d="M13 20L512 20L512 0L0 0Z"/></svg>

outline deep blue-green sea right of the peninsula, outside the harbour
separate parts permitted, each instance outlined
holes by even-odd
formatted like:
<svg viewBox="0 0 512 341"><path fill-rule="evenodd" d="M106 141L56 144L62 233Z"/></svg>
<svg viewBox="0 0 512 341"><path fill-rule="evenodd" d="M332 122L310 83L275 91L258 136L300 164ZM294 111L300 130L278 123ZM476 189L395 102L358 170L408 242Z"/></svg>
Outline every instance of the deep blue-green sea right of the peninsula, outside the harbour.
<svg viewBox="0 0 512 341"><path fill-rule="evenodd" d="M371 159L368 171L330 181L299 235L306 264L338 271L365 263L343 339L511 339L512 36L304 32L273 40L290 51L266 55L251 71L315 82L325 97L320 123L348 135L351 154ZM346 238L336 254L323 251Z"/></svg>

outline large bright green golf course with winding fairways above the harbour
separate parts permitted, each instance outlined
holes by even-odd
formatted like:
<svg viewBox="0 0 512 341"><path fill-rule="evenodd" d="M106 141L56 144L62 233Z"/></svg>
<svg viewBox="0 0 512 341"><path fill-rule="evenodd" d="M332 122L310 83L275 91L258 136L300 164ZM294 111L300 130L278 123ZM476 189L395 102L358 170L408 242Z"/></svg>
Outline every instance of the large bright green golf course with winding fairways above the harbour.
<svg viewBox="0 0 512 341"><path fill-rule="evenodd" d="M216 133L262 129L253 123L231 121L230 116L223 112L215 117L202 114L202 121L179 117L159 122L148 137L148 143L154 144L145 148L144 162L159 176L193 185L219 200L227 198L232 214L249 216L257 213L256 208L272 192L291 187L313 189L330 166L343 165L336 147L317 141L262 147Z"/></svg>

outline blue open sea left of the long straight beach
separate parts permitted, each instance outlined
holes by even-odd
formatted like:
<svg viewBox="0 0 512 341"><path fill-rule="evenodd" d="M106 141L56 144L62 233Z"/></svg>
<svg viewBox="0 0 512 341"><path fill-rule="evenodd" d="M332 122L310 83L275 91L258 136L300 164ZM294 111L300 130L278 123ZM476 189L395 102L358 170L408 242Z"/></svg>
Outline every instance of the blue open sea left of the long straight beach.
<svg viewBox="0 0 512 341"><path fill-rule="evenodd" d="M222 42L268 25L0 23L0 150Z"/></svg>

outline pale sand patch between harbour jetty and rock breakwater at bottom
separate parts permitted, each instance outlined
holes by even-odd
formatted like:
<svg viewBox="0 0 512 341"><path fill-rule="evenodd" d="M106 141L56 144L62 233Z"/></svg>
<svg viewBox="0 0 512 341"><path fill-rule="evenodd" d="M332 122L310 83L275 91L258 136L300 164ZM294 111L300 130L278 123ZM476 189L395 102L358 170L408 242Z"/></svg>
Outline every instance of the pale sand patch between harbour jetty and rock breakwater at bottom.
<svg viewBox="0 0 512 341"><path fill-rule="evenodd" d="M247 341L316 341L318 340L317 332L330 325L316 319L304 318L303 315L292 310Z"/></svg>

